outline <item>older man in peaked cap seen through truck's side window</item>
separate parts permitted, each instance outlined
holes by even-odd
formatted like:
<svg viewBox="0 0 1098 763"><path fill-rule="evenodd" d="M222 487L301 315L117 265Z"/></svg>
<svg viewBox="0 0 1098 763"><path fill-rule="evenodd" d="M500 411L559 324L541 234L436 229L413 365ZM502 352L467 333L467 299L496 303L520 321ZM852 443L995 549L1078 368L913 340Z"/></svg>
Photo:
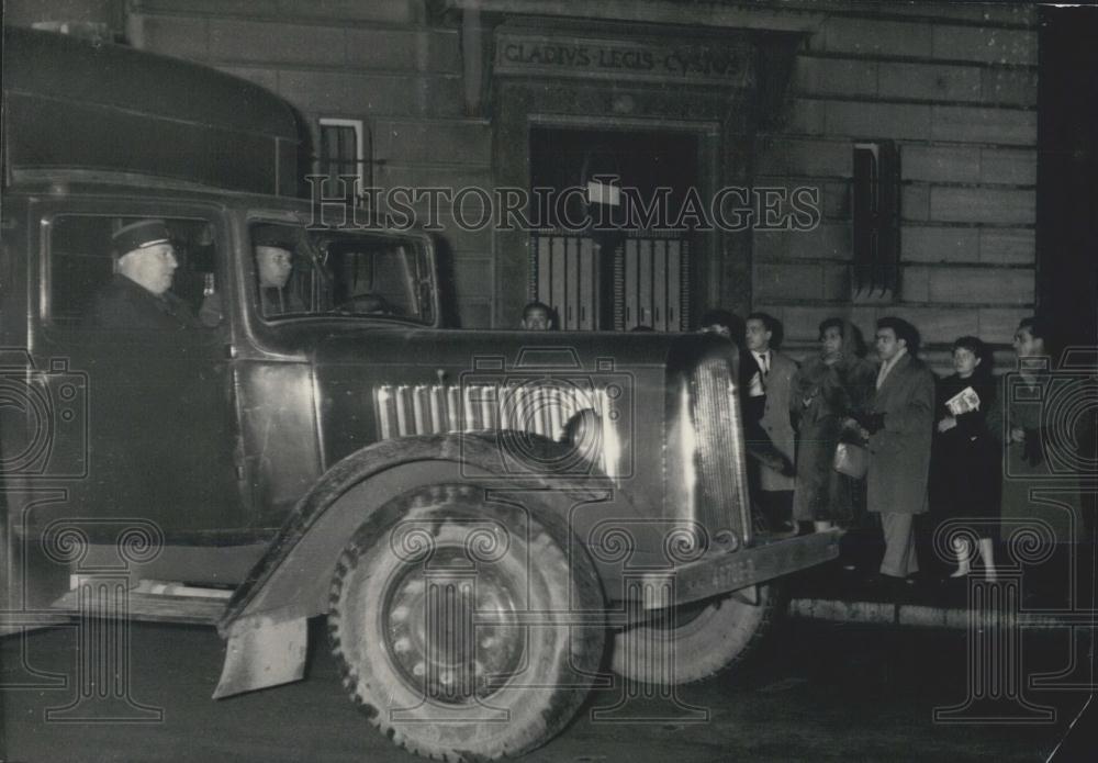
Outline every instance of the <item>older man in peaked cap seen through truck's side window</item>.
<svg viewBox="0 0 1098 763"><path fill-rule="evenodd" d="M111 244L114 274L92 301L94 325L163 330L199 326L187 303L170 291L179 262L163 220L124 225Z"/></svg>

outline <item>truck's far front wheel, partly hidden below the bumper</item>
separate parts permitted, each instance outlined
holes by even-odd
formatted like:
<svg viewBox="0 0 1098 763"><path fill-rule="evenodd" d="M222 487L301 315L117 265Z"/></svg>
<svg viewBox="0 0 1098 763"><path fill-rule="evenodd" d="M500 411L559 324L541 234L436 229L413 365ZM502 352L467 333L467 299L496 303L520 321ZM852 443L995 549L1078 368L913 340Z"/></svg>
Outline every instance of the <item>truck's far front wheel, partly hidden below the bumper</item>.
<svg viewBox="0 0 1098 763"><path fill-rule="evenodd" d="M614 641L614 672L646 684L671 685L732 667L758 647L774 621L775 586L760 585L758 591L758 604L731 594L683 605L619 632Z"/></svg>

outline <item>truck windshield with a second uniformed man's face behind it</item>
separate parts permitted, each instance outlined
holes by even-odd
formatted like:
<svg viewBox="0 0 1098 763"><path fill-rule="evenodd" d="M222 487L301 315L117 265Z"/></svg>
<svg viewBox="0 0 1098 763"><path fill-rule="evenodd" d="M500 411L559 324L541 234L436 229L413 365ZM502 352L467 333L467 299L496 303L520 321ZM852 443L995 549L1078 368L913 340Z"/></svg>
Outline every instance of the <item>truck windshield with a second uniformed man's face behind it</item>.
<svg viewBox="0 0 1098 763"><path fill-rule="evenodd" d="M314 315L434 322L430 262L413 238L281 223L255 223L250 233L256 305L266 321Z"/></svg>

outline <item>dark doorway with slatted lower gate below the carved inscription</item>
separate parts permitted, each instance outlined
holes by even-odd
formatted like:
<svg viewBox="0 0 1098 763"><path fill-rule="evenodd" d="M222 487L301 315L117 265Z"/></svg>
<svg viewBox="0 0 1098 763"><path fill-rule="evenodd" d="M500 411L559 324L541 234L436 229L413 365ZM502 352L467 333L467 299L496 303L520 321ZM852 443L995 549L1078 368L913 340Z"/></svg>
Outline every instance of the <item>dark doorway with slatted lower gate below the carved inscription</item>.
<svg viewBox="0 0 1098 763"><path fill-rule="evenodd" d="M531 199L544 202L529 299L565 330L686 330L692 235L675 223L698 188L698 137L534 126L529 142Z"/></svg>

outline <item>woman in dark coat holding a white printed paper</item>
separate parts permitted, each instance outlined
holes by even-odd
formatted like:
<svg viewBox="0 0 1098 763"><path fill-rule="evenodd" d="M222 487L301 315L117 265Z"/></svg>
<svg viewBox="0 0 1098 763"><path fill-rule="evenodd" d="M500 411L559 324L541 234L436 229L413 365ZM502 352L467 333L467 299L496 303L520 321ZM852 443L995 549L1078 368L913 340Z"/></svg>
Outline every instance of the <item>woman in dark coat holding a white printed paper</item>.
<svg viewBox="0 0 1098 763"><path fill-rule="evenodd" d="M953 369L938 385L931 490L945 516L974 519L985 574L994 579L990 520L999 515L1000 458L998 438L988 428L996 388L986 345L974 336L954 341ZM968 574L974 550L966 538L953 540L957 569L951 577Z"/></svg>

